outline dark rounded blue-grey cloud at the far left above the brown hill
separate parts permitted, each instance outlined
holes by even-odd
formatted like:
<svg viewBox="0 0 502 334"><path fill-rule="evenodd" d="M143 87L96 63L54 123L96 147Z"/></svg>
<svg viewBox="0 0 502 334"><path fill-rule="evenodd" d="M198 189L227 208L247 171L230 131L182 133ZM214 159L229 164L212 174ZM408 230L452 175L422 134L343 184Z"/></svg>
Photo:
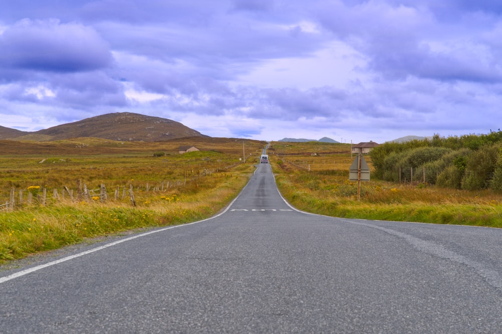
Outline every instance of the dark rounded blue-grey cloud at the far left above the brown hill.
<svg viewBox="0 0 502 334"><path fill-rule="evenodd" d="M57 20L22 20L0 35L0 67L38 72L85 72L106 68L112 57L96 31Z"/></svg>

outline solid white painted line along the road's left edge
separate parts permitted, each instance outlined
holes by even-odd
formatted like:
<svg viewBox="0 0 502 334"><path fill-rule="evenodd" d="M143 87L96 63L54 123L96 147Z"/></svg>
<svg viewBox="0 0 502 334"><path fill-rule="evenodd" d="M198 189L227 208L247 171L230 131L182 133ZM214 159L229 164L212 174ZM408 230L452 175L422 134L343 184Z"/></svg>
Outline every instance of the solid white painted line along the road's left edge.
<svg viewBox="0 0 502 334"><path fill-rule="evenodd" d="M228 211L228 209L230 208L230 206L232 206L233 202L235 202L237 200L237 198L240 196L240 194L242 193L242 191L244 190L244 188L247 187L248 184L249 184L249 182L246 183L246 185L242 188L242 190L239 192L239 194L230 202L230 204L228 204L226 206L226 208L223 211L221 211L217 215L214 215L214 216L212 216L210 218L206 218L206 219L199 220L199 221L194 221L192 223L186 223L186 224L180 224L180 225L174 225L174 226L164 227L164 228L160 228L160 229L157 229L157 230L154 230L154 231L150 231L150 232L145 232L145 233L141 233L141 234L138 234L138 235L134 235L134 236L131 236L129 238L124 238L124 239L120 239L120 240L117 240L117 241L113 241L113 242L107 243L105 245L102 245L102 246L99 246L99 247L95 247L95 248L83 251L83 252L78 253L78 254L66 256L66 257L63 257L63 258L51 261L51 262L47 262L47 263L44 263L44 264L40 264L40 265L34 266L32 268L28 268L28 269L25 269L25 270L21 270L21 271L15 272L15 273L10 274L8 276L0 277L0 284L2 284L4 282L7 282L7 281L9 281L11 279L18 278L18 277L27 275L29 273L38 271L40 269L50 267L50 266L58 264L58 263L69 261L69 260L72 260L74 258L83 256L83 255L87 255L87 254L90 254L90 253L93 253L93 252L97 252L98 250L102 250L102 249L105 249L105 248L117 245L117 244L122 243L122 242L130 241L130 240L142 237L142 236L146 236L146 235L150 235L150 234L154 234L154 233L158 233L158 232L163 232L163 231L170 230L170 229L173 229L173 228L176 228L176 227L183 227L183 226L193 225L193 224L197 224L197 223L202 223L204 221L211 220L211 219L214 219L216 217L219 217L219 216L221 216L222 214L224 214L225 212Z"/></svg>

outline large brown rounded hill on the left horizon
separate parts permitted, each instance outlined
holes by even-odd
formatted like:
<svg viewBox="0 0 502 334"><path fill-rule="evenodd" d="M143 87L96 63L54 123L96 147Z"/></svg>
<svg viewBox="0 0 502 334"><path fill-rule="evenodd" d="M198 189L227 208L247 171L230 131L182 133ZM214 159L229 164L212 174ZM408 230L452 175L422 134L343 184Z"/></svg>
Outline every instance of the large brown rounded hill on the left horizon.
<svg viewBox="0 0 502 334"><path fill-rule="evenodd" d="M0 139L55 141L79 137L152 142L207 136L179 122L135 113L105 114L35 132L0 127Z"/></svg>

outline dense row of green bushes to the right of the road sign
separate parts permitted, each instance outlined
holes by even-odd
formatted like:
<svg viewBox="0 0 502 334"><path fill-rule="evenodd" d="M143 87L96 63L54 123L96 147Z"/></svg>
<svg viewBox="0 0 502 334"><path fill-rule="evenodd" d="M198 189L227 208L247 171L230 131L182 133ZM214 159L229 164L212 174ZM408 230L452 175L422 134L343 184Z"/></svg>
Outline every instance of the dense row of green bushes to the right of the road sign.
<svg viewBox="0 0 502 334"><path fill-rule="evenodd" d="M487 135L440 137L406 143L385 143L370 153L374 177L401 182L412 171L441 187L502 191L502 131Z"/></svg>

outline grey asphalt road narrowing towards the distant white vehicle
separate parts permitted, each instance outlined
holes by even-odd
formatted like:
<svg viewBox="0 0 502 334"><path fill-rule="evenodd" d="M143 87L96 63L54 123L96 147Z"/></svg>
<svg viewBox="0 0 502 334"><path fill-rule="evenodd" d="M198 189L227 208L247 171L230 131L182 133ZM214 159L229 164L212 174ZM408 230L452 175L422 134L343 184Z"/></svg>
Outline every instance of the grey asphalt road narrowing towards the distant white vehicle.
<svg viewBox="0 0 502 334"><path fill-rule="evenodd" d="M214 218L0 272L0 332L502 332L501 244L299 212L261 164Z"/></svg>

